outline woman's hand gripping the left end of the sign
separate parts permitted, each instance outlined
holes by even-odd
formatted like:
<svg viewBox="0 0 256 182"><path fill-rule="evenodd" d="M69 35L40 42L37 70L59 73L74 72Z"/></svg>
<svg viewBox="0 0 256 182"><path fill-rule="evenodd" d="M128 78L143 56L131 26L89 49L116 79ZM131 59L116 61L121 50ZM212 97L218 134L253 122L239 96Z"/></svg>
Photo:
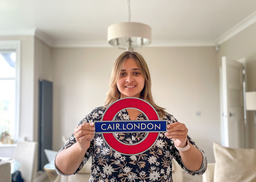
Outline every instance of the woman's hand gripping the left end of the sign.
<svg viewBox="0 0 256 182"><path fill-rule="evenodd" d="M94 137L94 133L94 123L83 123L79 126L76 126L74 136L81 149L87 150L89 148L90 141Z"/></svg>

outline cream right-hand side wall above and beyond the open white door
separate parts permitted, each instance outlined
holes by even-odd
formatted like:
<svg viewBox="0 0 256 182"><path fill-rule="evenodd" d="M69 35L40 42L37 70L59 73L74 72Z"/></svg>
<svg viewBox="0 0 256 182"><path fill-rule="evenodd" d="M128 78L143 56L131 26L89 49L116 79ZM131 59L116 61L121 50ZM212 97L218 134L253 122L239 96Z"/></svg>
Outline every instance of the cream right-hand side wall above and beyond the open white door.
<svg viewBox="0 0 256 182"><path fill-rule="evenodd" d="M256 23L247 29L230 38L220 46L218 52L218 64L221 66L221 57L227 56L232 59L245 58L247 68L247 91L256 89ZM247 111L248 129L249 129L249 147L254 146L254 112Z"/></svg>

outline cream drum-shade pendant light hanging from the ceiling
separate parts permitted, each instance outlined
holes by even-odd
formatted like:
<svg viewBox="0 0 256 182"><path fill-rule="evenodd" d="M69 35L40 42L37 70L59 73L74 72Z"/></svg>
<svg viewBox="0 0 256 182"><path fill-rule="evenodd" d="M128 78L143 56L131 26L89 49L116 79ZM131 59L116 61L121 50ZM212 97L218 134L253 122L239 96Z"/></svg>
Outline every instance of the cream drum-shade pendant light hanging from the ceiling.
<svg viewBox="0 0 256 182"><path fill-rule="evenodd" d="M115 23L108 27L108 43L132 52L151 43L151 27L143 23L130 22L130 0L128 11L129 22Z"/></svg>

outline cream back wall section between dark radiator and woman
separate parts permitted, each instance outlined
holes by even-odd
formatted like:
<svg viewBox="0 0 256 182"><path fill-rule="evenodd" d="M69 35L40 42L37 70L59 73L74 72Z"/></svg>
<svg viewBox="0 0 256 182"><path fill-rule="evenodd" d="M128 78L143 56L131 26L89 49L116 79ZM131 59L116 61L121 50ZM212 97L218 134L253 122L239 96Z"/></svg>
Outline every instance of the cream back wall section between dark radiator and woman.
<svg viewBox="0 0 256 182"><path fill-rule="evenodd" d="M63 146L78 123L93 108L103 105L115 59L122 50L111 48L52 49L53 150Z"/></svg>

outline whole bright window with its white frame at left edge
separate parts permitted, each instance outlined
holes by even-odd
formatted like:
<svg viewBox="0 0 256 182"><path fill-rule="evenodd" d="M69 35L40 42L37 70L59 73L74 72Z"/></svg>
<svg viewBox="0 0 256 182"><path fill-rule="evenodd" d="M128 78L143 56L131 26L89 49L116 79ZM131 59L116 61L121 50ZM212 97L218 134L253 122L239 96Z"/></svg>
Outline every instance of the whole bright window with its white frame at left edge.
<svg viewBox="0 0 256 182"><path fill-rule="evenodd" d="M0 41L0 139L13 143L19 136L20 42Z"/></svg>

